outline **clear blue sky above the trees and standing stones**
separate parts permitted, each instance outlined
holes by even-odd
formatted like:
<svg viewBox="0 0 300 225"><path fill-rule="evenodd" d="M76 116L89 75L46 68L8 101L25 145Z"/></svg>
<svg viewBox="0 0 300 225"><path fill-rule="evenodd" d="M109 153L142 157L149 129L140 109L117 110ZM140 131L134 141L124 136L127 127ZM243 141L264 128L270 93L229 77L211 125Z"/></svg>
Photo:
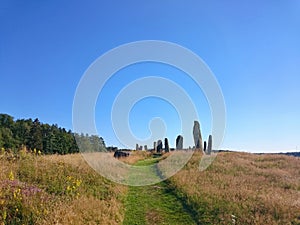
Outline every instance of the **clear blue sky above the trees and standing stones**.
<svg viewBox="0 0 300 225"><path fill-rule="evenodd" d="M226 105L220 149L300 150L296 0L1 1L0 113L72 129L74 95L85 71L107 51L142 40L181 45L213 72ZM124 147L112 127L112 106L126 85L145 76L169 79L188 93L207 139L212 116L201 88L176 68L141 63L116 72L98 96L95 122L106 145ZM140 139L151 136L152 126L171 147L181 131L176 107L157 97L137 102L128 123ZM185 147L193 145L192 134L184 138Z"/></svg>

